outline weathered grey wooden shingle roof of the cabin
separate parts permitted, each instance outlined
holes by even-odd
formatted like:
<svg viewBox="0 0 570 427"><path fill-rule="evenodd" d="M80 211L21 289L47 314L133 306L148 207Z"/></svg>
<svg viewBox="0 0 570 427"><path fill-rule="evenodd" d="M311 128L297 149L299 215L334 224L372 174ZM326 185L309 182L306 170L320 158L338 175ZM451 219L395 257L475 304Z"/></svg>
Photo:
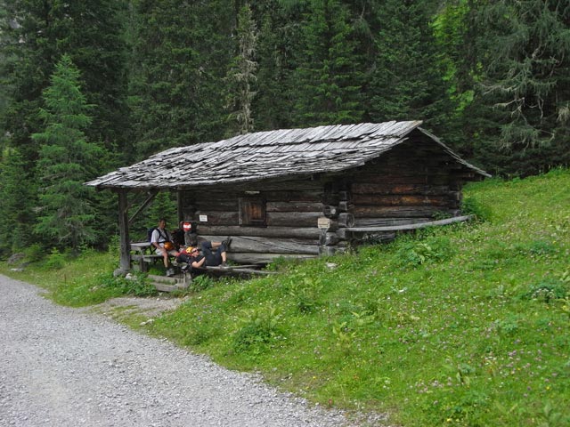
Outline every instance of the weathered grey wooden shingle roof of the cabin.
<svg viewBox="0 0 570 427"><path fill-rule="evenodd" d="M341 172L379 157L406 141L415 129L458 163L488 176L419 125L420 121L392 121L247 133L224 141L167 149L86 185L102 189L190 188Z"/></svg>

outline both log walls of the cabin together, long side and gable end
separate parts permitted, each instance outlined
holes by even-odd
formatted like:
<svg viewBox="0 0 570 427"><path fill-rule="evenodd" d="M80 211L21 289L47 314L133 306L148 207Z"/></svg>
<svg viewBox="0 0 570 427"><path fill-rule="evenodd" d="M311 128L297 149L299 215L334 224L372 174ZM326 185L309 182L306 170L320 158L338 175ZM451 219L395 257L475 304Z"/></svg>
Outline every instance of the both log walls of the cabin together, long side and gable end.
<svg viewBox="0 0 570 427"><path fill-rule="evenodd" d="M353 227L414 224L459 214L465 173L433 141L411 136L345 173L182 191L181 220L198 223L200 239L231 236L228 256L236 262L334 254L354 243ZM264 226L240 225L242 197L264 201ZM388 234L379 238L394 238Z"/></svg>

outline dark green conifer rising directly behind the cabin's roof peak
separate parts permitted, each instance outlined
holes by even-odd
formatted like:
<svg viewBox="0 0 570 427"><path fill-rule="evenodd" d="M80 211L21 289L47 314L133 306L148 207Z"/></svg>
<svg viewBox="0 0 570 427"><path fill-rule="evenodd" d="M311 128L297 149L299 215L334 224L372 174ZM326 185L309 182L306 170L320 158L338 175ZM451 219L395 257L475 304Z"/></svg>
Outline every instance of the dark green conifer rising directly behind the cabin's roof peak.
<svg viewBox="0 0 570 427"><path fill-rule="evenodd" d="M430 27L430 2L385 0L379 7L376 69L368 87L373 121L425 120L441 130L449 113L447 85Z"/></svg>

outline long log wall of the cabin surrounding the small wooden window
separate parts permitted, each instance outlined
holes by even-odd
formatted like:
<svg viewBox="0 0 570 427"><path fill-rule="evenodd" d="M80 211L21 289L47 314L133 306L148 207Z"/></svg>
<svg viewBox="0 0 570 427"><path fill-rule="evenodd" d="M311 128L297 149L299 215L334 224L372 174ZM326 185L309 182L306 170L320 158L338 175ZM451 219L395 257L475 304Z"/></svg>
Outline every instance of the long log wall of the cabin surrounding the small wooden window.
<svg viewBox="0 0 570 427"><path fill-rule="evenodd" d="M319 254L323 190L320 181L237 187L231 191L183 191L183 220L198 224L199 240L232 237L228 258L235 262L271 262L275 258ZM240 225L240 197L265 201L265 226ZM200 221L200 216L208 221Z"/></svg>

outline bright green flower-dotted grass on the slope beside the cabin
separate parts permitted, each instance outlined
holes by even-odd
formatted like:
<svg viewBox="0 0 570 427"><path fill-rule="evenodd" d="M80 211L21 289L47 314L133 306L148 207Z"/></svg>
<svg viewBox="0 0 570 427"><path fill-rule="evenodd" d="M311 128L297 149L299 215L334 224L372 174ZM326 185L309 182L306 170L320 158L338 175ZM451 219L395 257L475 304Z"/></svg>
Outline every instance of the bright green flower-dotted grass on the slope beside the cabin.
<svg viewBox="0 0 570 427"><path fill-rule="evenodd" d="M570 171L465 195L485 221L203 286L149 332L390 423L569 425Z"/></svg>

